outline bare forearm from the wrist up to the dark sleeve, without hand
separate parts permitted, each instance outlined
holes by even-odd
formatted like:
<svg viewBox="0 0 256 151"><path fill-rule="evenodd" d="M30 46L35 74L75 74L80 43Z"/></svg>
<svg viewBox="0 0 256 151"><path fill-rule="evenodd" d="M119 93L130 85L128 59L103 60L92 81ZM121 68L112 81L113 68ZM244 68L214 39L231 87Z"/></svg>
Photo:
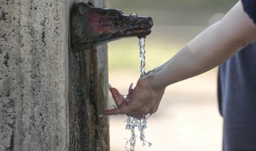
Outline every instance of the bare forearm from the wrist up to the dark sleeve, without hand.
<svg viewBox="0 0 256 151"><path fill-rule="evenodd" d="M239 3L233 9L238 8L241 9ZM244 26L247 24L239 22L239 19L248 18L247 14L239 12L243 10L233 11L235 13L231 11L226 18L200 33L172 59L157 68L152 76L154 86L158 89L164 88L167 85L206 72L226 61L247 43L253 42L255 36L249 34L250 32L255 34L256 26L247 19L246 21L249 20L249 24L255 27L249 27L253 31L244 30L246 28ZM236 16L237 20L233 20L233 16Z"/></svg>

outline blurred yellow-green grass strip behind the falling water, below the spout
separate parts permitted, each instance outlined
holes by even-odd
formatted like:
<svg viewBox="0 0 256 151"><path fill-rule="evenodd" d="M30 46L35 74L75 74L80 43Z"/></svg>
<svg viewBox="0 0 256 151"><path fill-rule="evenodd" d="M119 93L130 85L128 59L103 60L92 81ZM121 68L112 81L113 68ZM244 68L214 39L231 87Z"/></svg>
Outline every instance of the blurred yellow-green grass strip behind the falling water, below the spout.
<svg viewBox="0 0 256 151"><path fill-rule="evenodd" d="M139 71L140 59L138 38L121 39L108 44L108 67L110 70ZM145 45L146 71L160 66L178 51L178 46L165 45L160 42Z"/></svg>

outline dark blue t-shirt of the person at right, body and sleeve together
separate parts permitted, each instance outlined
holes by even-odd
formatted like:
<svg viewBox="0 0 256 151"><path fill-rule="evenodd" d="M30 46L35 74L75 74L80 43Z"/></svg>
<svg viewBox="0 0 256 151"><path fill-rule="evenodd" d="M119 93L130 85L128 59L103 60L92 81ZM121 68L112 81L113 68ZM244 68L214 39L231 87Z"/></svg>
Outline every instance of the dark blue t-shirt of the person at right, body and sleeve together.
<svg viewBox="0 0 256 151"><path fill-rule="evenodd" d="M242 0L256 26L256 0ZM219 108L224 117L223 150L256 150L256 43L219 67Z"/></svg>

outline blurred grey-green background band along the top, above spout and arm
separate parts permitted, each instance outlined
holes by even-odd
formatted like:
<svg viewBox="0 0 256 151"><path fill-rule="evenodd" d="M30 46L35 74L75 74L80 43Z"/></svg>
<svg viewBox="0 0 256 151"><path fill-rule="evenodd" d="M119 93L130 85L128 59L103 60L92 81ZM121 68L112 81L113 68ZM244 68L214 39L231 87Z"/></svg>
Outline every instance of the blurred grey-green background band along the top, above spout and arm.
<svg viewBox="0 0 256 151"><path fill-rule="evenodd" d="M226 13L238 0L106 0L124 14L152 16L155 25L206 26L216 13Z"/></svg>

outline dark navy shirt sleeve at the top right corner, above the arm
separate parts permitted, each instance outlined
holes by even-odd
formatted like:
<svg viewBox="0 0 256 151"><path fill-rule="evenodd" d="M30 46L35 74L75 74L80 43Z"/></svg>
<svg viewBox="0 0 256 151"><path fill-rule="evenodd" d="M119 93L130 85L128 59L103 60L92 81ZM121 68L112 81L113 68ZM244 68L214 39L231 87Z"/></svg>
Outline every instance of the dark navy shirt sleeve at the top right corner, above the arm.
<svg viewBox="0 0 256 151"><path fill-rule="evenodd" d="M256 0L241 0L243 3L244 11L256 24Z"/></svg>

